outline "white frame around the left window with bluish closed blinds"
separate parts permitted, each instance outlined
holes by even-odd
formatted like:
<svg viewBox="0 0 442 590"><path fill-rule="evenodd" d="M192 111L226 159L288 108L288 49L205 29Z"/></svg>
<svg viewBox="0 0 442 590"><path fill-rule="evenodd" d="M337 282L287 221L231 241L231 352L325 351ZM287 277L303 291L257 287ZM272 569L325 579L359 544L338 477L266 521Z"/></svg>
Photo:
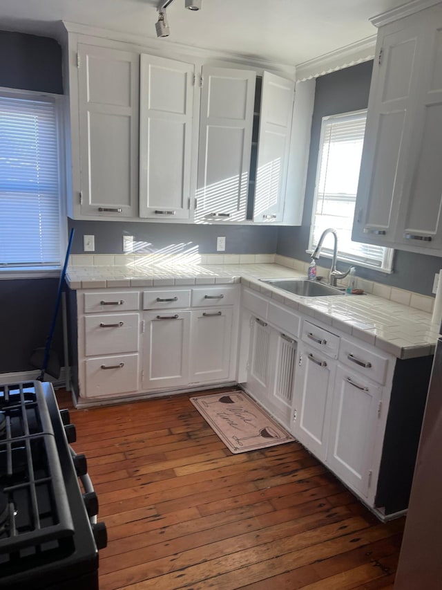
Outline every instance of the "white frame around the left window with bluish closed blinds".
<svg viewBox="0 0 442 590"><path fill-rule="evenodd" d="M68 243L66 217L66 108L67 97L63 94L37 92L31 90L11 89L0 86L0 96L17 98L17 100L47 100L54 104L55 125L57 131L58 151L58 186L59 186L59 264L51 266L1 266L1 279L37 279L59 277L64 264L65 250Z"/></svg>

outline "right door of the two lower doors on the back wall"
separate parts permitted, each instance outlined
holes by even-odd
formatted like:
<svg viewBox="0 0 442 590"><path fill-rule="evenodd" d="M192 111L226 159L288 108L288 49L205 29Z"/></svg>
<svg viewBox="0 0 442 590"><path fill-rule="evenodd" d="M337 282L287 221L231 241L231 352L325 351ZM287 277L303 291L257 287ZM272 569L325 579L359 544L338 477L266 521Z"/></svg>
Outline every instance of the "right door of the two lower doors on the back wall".
<svg viewBox="0 0 442 590"><path fill-rule="evenodd" d="M191 382L227 380L230 377L231 308L192 311Z"/></svg>

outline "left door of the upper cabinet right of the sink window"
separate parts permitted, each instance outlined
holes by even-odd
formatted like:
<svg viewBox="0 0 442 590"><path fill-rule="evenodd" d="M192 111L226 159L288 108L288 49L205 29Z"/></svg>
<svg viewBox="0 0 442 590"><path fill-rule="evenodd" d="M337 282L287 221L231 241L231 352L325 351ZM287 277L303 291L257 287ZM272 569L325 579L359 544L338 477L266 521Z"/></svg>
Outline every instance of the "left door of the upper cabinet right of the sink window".
<svg viewBox="0 0 442 590"><path fill-rule="evenodd" d="M378 38L352 234L380 246L394 242L421 67L419 21L398 26Z"/></svg>

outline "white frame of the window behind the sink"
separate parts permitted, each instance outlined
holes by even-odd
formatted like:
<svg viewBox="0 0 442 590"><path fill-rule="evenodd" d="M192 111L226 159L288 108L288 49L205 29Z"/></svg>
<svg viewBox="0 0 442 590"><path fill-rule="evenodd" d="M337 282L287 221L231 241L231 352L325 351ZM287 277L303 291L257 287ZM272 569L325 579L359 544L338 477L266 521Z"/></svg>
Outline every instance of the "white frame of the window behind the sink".
<svg viewBox="0 0 442 590"><path fill-rule="evenodd" d="M358 111L347 111L345 113L335 113L334 115L324 116L321 120L320 137L319 137L318 150L317 150L317 160L316 160L314 198L313 198L313 205L311 208L309 246L306 250L306 252L308 254L312 254L316 248L316 244L314 244L314 241L313 241L313 234L314 234L314 221L315 221L315 216L316 216L316 203L318 201L320 170L321 170L321 164L322 164L322 154L323 154L323 145L324 145L324 136L325 136L325 123L329 120L336 120L339 118L358 116L358 115L362 115L362 114L365 114L365 116L366 116L367 109L359 109ZM339 243L338 243L338 246L339 246ZM367 261L361 260L356 255L352 256L352 255L349 255L349 253L339 252L339 250L338 250L338 261L342 261L342 262L345 262L350 265L356 264L357 266L363 266L364 268L376 270L378 273L391 274L394 272L394 270L393 270L394 249L393 248L386 248L385 246L380 246L380 248L383 248L383 250L384 250L384 255L383 255L383 260L382 260L381 266L376 266L375 264L370 264ZM321 255L321 257L332 259L333 252L329 248L321 248L320 255Z"/></svg>

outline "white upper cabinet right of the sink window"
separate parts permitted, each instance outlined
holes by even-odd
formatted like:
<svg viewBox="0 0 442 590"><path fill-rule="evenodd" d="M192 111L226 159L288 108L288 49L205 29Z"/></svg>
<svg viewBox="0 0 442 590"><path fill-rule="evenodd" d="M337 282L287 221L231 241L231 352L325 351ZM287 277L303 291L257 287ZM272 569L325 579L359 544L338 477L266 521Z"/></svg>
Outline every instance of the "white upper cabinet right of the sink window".
<svg viewBox="0 0 442 590"><path fill-rule="evenodd" d="M379 29L356 241L442 256L441 28L439 4Z"/></svg>

